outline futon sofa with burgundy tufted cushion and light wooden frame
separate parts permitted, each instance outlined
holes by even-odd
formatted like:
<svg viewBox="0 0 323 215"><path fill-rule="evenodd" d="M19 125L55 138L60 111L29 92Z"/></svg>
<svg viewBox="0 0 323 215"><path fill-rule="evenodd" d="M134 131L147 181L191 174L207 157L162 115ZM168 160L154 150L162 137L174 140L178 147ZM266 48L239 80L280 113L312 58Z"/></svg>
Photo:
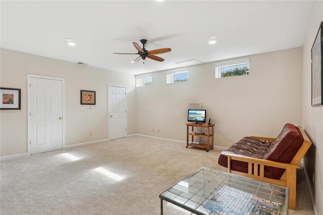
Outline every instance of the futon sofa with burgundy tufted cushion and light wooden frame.
<svg viewBox="0 0 323 215"><path fill-rule="evenodd" d="M296 169L310 145L302 127L287 123L277 138L242 138L220 154L218 164L229 173L289 187L289 208L295 210Z"/></svg>

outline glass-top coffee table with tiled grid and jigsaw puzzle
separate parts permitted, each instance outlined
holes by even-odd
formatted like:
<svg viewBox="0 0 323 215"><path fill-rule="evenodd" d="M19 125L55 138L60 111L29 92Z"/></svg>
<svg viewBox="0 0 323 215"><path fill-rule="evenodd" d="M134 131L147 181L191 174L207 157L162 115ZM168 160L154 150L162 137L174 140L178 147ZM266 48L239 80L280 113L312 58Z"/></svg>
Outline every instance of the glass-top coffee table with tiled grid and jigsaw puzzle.
<svg viewBox="0 0 323 215"><path fill-rule="evenodd" d="M242 176L197 170L159 195L195 214L288 214L289 189Z"/></svg>

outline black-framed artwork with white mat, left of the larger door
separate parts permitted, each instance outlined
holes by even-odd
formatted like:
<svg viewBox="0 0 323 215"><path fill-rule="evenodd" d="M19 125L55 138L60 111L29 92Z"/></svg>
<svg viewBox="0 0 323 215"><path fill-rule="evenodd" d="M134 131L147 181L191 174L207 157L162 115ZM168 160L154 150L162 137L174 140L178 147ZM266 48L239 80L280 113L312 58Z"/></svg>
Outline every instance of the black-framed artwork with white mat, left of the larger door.
<svg viewBox="0 0 323 215"><path fill-rule="evenodd" d="M0 110L21 110L21 89L0 87Z"/></svg>

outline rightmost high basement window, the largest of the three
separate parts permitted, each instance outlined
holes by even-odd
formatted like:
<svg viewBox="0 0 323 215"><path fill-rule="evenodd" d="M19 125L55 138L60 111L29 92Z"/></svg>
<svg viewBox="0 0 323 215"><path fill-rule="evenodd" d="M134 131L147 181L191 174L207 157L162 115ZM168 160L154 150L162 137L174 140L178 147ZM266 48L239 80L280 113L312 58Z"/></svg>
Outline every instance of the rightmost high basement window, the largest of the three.
<svg viewBox="0 0 323 215"><path fill-rule="evenodd" d="M249 59L216 64L216 78L249 75Z"/></svg>

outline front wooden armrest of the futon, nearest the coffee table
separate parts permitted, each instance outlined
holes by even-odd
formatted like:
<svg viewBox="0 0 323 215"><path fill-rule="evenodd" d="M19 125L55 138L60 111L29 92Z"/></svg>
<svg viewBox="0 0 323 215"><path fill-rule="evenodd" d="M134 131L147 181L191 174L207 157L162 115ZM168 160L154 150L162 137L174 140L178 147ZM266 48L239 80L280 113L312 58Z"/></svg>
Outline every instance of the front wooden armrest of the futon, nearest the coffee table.
<svg viewBox="0 0 323 215"><path fill-rule="evenodd" d="M266 160L266 159L259 159L259 158L254 158L254 157L246 157L246 156L241 156L238 154L226 154L228 159L232 160L239 160L241 162L247 162L247 163L252 163L252 164L259 164L259 165L264 165L268 167L277 167L277 168L282 168L282 169L287 169L289 168L295 168L299 169L299 165L296 164L286 164L286 163L281 163L281 162L275 162L273 160ZM231 169L228 165L228 169Z"/></svg>

